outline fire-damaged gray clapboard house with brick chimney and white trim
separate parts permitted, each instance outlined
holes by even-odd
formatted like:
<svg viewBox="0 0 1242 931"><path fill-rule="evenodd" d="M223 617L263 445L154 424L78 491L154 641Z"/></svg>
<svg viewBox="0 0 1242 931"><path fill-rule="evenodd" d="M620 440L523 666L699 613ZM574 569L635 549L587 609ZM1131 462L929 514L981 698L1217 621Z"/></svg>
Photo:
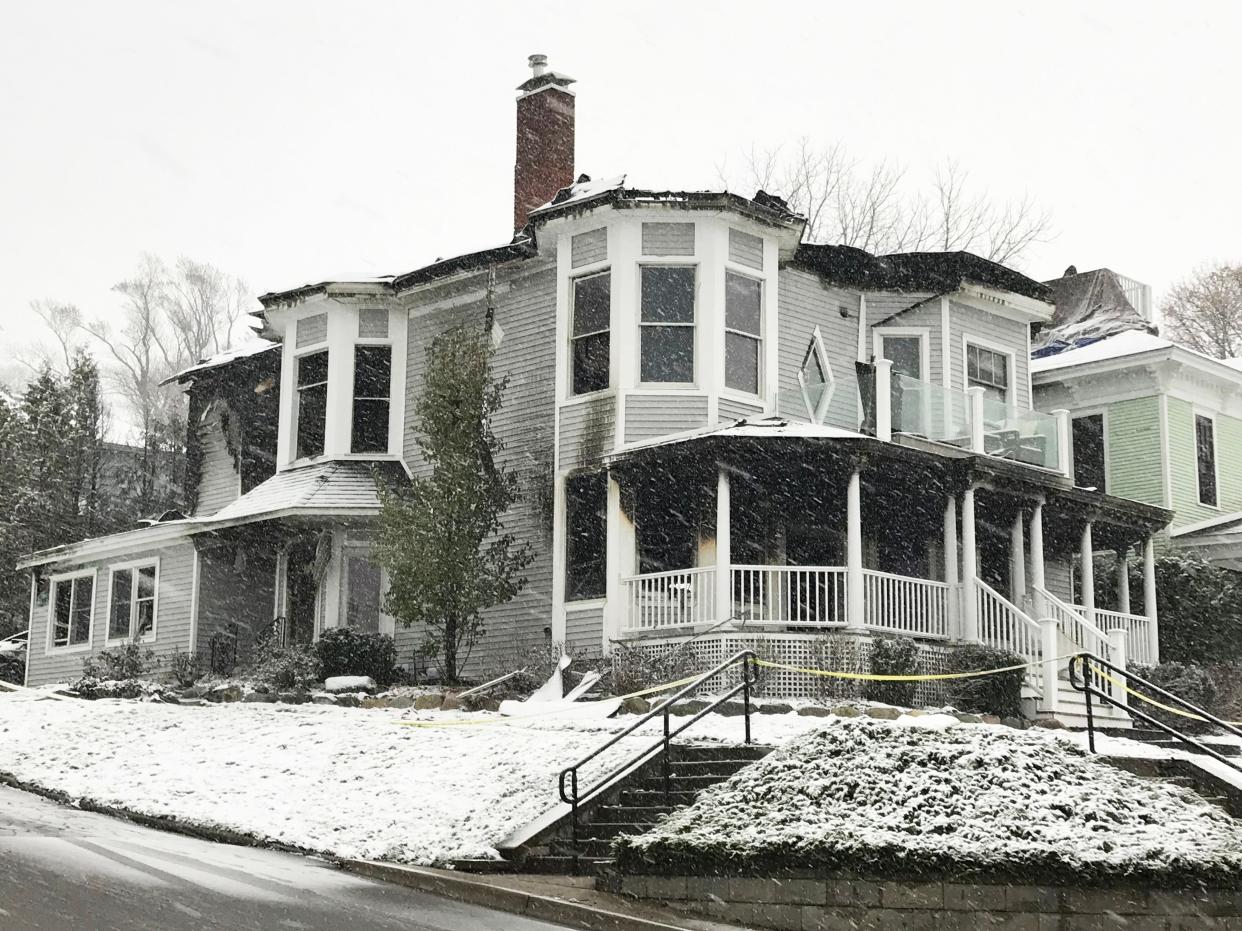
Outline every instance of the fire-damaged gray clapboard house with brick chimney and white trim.
<svg viewBox="0 0 1242 931"><path fill-rule="evenodd" d="M864 663L883 633L918 638L928 669L954 641L1154 659L1154 608L1104 631L1072 605L1093 546L1145 550L1154 586L1169 514L1076 488L1068 416L1032 408L1046 286L968 253L809 245L764 192L575 180L573 79L532 65L513 240L265 294L271 345L179 376L193 513L24 564L31 684L119 638L204 653L274 618L289 639L391 632L410 657L369 556L373 475L425 468L426 348L486 320L509 377L494 427L527 490L509 528L538 557L487 613L481 668L546 642ZM1061 690L1032 679L1045 710Z"/></svg>

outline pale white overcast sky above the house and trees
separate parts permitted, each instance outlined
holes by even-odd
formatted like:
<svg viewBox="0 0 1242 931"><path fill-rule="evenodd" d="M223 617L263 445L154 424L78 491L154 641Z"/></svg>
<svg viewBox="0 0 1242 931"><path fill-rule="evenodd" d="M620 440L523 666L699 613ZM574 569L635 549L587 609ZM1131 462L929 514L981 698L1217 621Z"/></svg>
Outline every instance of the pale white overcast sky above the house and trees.
<svg viewBox="0 0 1242 931"><path fill-rule="evenodd" d="M707 187L799 137L914 180L951 158L1052 214L1030 274L1159 294L1242 259L1240 35L1237 2L10 4L0 341L36 298L114 314L144 251L262 293L505 241L530 52L579 81L579 171Z"/></svg>

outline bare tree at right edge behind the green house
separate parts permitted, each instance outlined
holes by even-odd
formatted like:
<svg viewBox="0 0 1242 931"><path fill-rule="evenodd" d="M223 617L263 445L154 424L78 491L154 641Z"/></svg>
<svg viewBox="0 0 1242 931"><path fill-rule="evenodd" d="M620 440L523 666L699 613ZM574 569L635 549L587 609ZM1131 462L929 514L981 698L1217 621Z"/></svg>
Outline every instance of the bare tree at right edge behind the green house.
<svg viewBox="0 0 1242 931"><path fill-rule="evenodd" d="M1163 305L1170 335L1217 359L1242 355L1242 266L1202 266L1170 288Z"/></svg>

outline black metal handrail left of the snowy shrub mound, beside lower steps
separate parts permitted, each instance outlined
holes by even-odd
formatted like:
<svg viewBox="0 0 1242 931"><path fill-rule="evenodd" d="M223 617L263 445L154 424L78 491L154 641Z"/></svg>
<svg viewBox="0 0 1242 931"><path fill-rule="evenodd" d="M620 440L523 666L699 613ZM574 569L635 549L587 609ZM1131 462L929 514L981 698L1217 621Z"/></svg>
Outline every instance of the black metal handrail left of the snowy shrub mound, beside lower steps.
<svg viewBox="0 0 1242 931"><path fill-rule="evenodd" d="M587 753L586 756L584 756L581 760L579 760L573 766L566 766L564 770L560 771L560 778L558 781L558 788L560 791L560 801L563 801L566 804L569 804L570 809L571 809L570 830L573 832L573 840L574 840L575 849L578 847L578 806L581 804L582 802L587 801L589 798L591 798L596 793L601 792L602 789L607 788L622 773L632 771L632 770L635 770L635 768L637 768L640 766L645 766L645 765L650 763L652 760L656 758L657 753L660 756L662 756L662 758L663 758L663 766L664 766L664 770L663 770L664 801L667 802L669 799L669 796L671 796L671 792L672 792L672 773L669 771L669 763L668 763L668 747L669 747L669 742L678 734L681 734L687 727L689 727L696 721L698 721L700 717L703 717L703 715L709 714L710 711L714 711L717 708L719 708L725 701L728 701L729 699L732 699L739 691L743 693L743 695L741 695L741 703L743 703L743 719L745 720L746 744L750 744L750 689L759 680L759 662L758 660L759 660L759 657L755 655L754 650L744 649L744 650L740 650L738 653L734 653L727 660L724 660L723 663L720 663L720 665L715 667L714 669L710 669L709 672L703 673L700 677L698 677L689 685L686 685L676 695L673 695L672 698L664 700L662 704L660 704L656 708L653 708L650 711L647 711L647 714L642 715L637 721L635 721L633 724L631 724L628 727L626 727L620 734L614 735L611 740L609 740L607 742L601 744L600 746L597 746L595 750L592 750L590 753ZM719 675L720 673L725 672L727 669L729 669L729 668L732 668L734 665L738 665L739 663L741 664L741 681L740 683L738 683L737 685L734 685L732 689L729 689L728 691L725 691L723 695L717 696L715 700L710 701L707 705L707 708L700 709L698 711L698 714L696 714L694 716L692 716L684 724L679 725L676 730L671 729L669 720L668 720L668 714L669 714L669 711L671 711L674 701L677 701L679 699L683 699L687 695L693 694L708 679L712 679L713 677ZM600 778L594 786L591 786L590 788L587 788L585 792L580 789L580 787L578 785L578 772L579 772L579 770L582 768L582 766L585 766L586 763L591 762L591 760L594 760L595 757L597 757L605 750L609 750L610 747L616 746L621 740L623 740L625 737L630 736L636 730L638 730L640 727L642 727L642 725L647 724L647 721L650 721L651 719L653 719L653 717L656 717L658 715L662 715L663 719L664 719L664 735L657 742L652 744L650 747L647 747L646 750L643 750L641 753L631 757L626 762L623 762L620 766L617 766L616 768L614 768L611 772L609 772L606 776L604 776L602 778Z"/></svg>

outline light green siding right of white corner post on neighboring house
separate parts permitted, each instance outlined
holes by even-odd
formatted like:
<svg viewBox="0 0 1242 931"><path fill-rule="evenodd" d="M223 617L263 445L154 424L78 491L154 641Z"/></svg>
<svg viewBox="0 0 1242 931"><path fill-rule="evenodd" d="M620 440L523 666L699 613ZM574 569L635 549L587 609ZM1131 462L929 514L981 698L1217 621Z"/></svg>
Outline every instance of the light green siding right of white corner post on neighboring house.
<svg viewBox="0 0 1242 931"><path fill-rule="evenodd" d="M1216 472L1218 506L1199 503L1195 461L1195 408L1187 401L1169 398L1169 466L1172 474L1172 526L1210 520L1242 510L1242 472L1231 468L1242 461L1242 421L1216 416Z"/></svg>

